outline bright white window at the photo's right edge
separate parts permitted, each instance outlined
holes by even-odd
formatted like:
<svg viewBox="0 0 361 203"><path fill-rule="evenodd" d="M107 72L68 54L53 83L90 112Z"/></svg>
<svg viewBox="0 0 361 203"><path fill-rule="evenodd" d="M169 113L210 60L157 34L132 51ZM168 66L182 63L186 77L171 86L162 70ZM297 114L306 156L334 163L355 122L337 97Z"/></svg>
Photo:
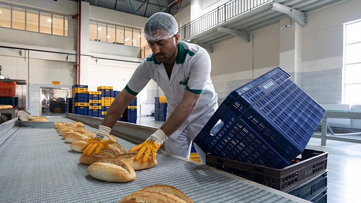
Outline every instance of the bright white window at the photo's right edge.
<svg viewBox="0 0 361 203"><path fill-rule="evenodd" d="M345 25L344 103L361 104L361 21Z"/></svg>

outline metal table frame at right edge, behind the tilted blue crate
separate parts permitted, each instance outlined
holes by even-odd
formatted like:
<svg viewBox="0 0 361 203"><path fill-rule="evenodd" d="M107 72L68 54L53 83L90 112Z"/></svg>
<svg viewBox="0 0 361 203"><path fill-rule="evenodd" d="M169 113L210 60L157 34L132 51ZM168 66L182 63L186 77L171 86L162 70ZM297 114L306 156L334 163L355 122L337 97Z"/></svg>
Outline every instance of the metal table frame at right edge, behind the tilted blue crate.
<svg viewBox="0 0 361 203"><path fill-rule="evenodd" d="M326 139L346 141L353 143L361 143L360 139L347 137L349 135L361 135L361 132L357 133L341 133L334 134L331 128L327 124L328 118L334 119L361 119L361 111L343 111L343 110L327 110L322 122L321 122L321 135L314 134L312 137L321 138L321 146L326 146ZM330 135L327 135L327 129L330 131ZM343 136L343 137L341 137Z"/></svg>

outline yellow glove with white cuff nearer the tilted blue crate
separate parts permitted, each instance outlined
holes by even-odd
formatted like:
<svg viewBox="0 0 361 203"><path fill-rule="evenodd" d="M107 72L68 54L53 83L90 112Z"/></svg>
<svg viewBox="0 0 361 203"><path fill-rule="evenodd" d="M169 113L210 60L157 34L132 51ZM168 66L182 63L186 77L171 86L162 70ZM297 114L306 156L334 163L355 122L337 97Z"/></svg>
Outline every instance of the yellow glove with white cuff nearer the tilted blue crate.
<svg viewBox="0 0 361 203"><path fill-rule="evenodd" d="M168 136L163 132L162 129L158 129L155 133L150 135L143 143L138 144L136 147L129 150L129 152L139 151L135 156L134 160L137 161L145 152L142 159L142 163L146 162L150 153L151 161L156 161L157 151L162 146L162 143L168 139Z"/></svg>

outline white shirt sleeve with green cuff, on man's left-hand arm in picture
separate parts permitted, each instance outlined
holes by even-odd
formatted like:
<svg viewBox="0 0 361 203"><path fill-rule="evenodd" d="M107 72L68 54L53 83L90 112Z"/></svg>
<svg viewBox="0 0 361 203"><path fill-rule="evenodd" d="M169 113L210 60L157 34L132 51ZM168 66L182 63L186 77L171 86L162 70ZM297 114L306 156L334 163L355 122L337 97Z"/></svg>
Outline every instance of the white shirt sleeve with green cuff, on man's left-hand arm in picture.
<svg viewBox="0 0 361 203"><path fill-rule="evenodd" d="M143 90L145 85L150 80L149 69L146 66L146 61L143 61L134 71L131 79L125 86L125 90L131 95L138 95Z"/></svg>

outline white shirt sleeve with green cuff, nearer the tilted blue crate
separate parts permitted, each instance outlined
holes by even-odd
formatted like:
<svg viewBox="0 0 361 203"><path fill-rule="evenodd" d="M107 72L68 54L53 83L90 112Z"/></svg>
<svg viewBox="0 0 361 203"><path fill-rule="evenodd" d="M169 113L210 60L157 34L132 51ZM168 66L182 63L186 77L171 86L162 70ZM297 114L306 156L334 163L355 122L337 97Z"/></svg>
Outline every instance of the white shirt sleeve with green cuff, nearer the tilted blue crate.
<svg viewBox="0 0 361 203"><path fill-rule="evenodd" d="M191 74L186 90L194 94L203 94L211 77L211 57L205 50L197 52L191 61Z"/></svg>

